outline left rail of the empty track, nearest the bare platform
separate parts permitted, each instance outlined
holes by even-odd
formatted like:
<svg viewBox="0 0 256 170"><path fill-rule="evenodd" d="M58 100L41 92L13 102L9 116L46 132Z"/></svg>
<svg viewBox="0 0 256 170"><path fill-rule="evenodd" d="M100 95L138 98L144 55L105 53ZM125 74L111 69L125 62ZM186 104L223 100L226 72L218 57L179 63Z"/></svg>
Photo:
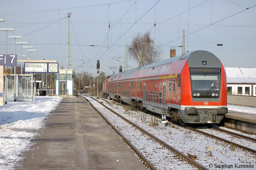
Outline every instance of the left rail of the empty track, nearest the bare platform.
<svg viewBox="0 0 256 170"><path fill-rule="evenodd" d="M89 97L89 96L88 96ZM91 97L92 98L92 97ZM86 98L85 98L86 99ZM93 99L93 98L92 98ZM87 99L86 99L87 100ZM94 99L94 100L96 100L96 99ZM98 100L96 100L96 101L98 101ZM152 169L152 170L157 170L155 167L154 167L154 165L153 164L151 164L148 160L147 160L147 158L145 158L143 155L142 155L142 153L140 153L140 151L138 151L132 144L131 144L131 142L129 141L129 140L127 140L126 139L126 137L124 137L106 118L105 118L105 116L103 116L102 114L101 114L101 112L100 111L98 111L98 109L96 109L92 104L91 104L91 102L89 101L89 100L87 100L87 102L91 105L91 107L95 110L95 111L97 111L98 113L99 113L99 115L111 126L111 128L118 134L118 135L120 135L121 137L122 137L122 139L134 150L134 152L136 152L136 154L144 161L144 166L145 167L147 167L147 168L150 168L150 169ZM100 103L100 102L99 102ZM102 103L100 103L100 104L102 104ZM103 104L102 104L103 105ZM103 105L104 106L104 105Z"/></svg>

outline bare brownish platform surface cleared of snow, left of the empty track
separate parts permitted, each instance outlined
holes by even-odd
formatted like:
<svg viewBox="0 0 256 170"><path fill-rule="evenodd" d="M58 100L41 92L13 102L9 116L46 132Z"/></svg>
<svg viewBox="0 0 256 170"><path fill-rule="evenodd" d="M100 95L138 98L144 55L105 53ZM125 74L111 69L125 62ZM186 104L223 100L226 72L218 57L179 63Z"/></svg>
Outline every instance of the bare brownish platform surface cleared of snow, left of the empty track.
<svg viewBox="0 0 256 170"><path fill-rule="evenodd" d="M63 98L16 169L146 169L83 97Z"/></svg>

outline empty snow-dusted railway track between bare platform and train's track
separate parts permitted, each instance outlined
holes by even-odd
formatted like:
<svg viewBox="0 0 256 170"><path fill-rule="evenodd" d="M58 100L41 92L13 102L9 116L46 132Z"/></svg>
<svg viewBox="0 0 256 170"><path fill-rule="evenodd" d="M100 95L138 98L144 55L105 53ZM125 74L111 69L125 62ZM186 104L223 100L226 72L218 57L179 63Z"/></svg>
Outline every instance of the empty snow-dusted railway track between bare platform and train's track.
<svg viewBox="0 0 256 170"><path fill-rule="evenodd" d="M93 99L93 98L91 98L91 99ZM95 99L93 99L93 100L95 100ZM185 166L187 166L187 168L189 168L189 169L195 169L195 168L207 169L206 167L202 166L198 162L192 160L188 156L186 156L183 153L179 152L174 147L168 145L167 143L165 143L164 141L158 139L157 137L155 137L151 133L148 133L147 131L143 130L142 128L140 128L136 124L132 123L131 121L129 121L127 119L125 119L123 116L119 115L118 113L116 113L112 109L106 107L104 104L102 104L98 100L95 100L95 101L97 101L99 104L104 106L104 108L108 109L109 111L114 113L116 117L118 117L118 118L114 118L114 119L122 119L123 121L129 123L129 125L124 125L124 123L121 123L120 125L117 125L116 122L118 122L118 121L115 121L115 125L112 125L112 123L109 122L108 120L106 120L107 118L105 118L105 116L108 115L108 114L106 114L105 116L102 115L103 119L105 119L106 122L108 124L110 124L110 126L115 131L118 129L117 133L120 136L122 136L122 139L125 140L127 144L130 145L130 143L133 143L133 144L130 145L130 147L138 155L140 155L141 159L143 160L143 162L145 163L145 165L147 167L150 167L151 169L154 169L155 167L151 166L151 164L159 166L158 163L154 162L154 161L160 159L160 160L162 160L161 162L166 162L166 165L164 165L166 168L168 166L170 166L168 168L174 168L173 166L175 166L175 165L177 165L180 168L180 166L183 167L184 164L185 164ZM89 102L91 102L91 101L89 101ZM96 109L96 108L94 107L94 109ZM96 110L98 110L98 107L97 107ZM99 112L100 111L98 111L98 113ZM99 113L99 114L101 114L101 113ZM113 115L112 115L112 119L113 119ZM116 128L116 127L120 127L120 128ZM128 127L128 128L126 129L125 127ZM125 133L126 134L125 136L128 136L128 137L124 137L121 134L121 132L118 132L118 131L122 131L122 133ZM136 132L136 134L135 134L135 132ZM135 139L135 141L134 141L134 139ZM146 142L143 142L143 145L138 145L137 146L136 143L140 143L140 141L142 141L142 140L145 140ZM133 142L130 142L130 141L133 141ZM132 146L134 144L136 146ZM140 148L138 150L140 150L140 152L142 152L144 156L141 153L138 153L137 149L135 147L136 148L137 147ZM158 154L160 154L159 157L157 156ZM147 159L149 159L150 161L147 161L147 159L145 157L147 157ZM152 161L154 163L152 163ZM188 162L189 165L184 163L184 161Z"/></svg>

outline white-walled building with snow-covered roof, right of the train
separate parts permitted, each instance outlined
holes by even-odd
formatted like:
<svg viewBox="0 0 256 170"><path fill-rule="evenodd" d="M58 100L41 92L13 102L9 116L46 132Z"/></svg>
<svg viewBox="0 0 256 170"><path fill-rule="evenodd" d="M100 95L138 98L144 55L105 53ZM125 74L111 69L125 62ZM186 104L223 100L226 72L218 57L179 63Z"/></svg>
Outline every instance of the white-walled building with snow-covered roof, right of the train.
<svg viewBox="0 0 256 170"><path fill-rule="evenodd" d="M226 68L227 93L256 96L256 68Z"/></svg>

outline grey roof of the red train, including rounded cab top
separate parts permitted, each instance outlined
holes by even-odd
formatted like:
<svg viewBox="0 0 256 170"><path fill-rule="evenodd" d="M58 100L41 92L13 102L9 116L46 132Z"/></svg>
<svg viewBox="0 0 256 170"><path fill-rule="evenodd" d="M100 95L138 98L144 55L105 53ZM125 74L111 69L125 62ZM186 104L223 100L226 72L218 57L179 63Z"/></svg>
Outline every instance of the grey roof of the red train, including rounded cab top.
<svg viewBox="0 0 256 170"><path fill-rule="evenodd" d="M206 56L208 56L208 57L206 57ZM195 60L195 58L199 58L199 59ZM172 58L157 61L157 62L148 64L148 65L144 65L144 66L141 66L141 67L137 67L137 68L133 68L133 69L130 69L130 70L123 71L123 72L119 72L119 73L111 75L111 77L122 75L122 74L129 73L129 72L134 72L136 70L142 70L142 69L146 69L146 68L160 66L160 65L163 65L163 64L167 64L167 63L172 63L172 62L179 61L179 60L185 60L185 59L189 60L189 63L191 65L190 67L200 67L201 63L202 63L201 61L204 61L206 59L210 60L208 63L216 63L216 65L218 65L218 63L219 63L218 67L221 67L220 66L220 60L214 54L212 54L209 51L197 50L197 51L193 51L191 53L187 53L187 54L184 54L184 55L175 56L175 57L172 57ZM200 60L200 62L198 62L198 60ZM208 66L212 67L212 64L208 65Z"/></svg>

